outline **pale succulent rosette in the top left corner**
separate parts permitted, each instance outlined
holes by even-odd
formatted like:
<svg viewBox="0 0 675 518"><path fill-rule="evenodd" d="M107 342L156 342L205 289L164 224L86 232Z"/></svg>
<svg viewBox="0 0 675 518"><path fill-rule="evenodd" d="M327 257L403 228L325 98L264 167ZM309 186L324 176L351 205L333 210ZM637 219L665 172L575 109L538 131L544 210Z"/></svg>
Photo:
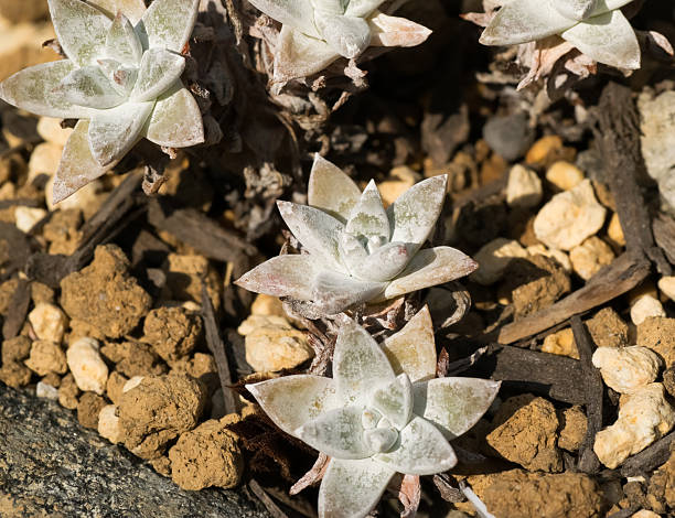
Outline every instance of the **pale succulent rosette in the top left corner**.
<svg viewBox="0 0 675 518"><path fill-rule="evenodd" d="M167 148L204 141L183 86L181 55L199 0L49 0L67 60L0 83L0 98L46 117L79 119L63 151L54 201L105 174L141 139ZM111 18L111 14L115 17Z"/></svg>

